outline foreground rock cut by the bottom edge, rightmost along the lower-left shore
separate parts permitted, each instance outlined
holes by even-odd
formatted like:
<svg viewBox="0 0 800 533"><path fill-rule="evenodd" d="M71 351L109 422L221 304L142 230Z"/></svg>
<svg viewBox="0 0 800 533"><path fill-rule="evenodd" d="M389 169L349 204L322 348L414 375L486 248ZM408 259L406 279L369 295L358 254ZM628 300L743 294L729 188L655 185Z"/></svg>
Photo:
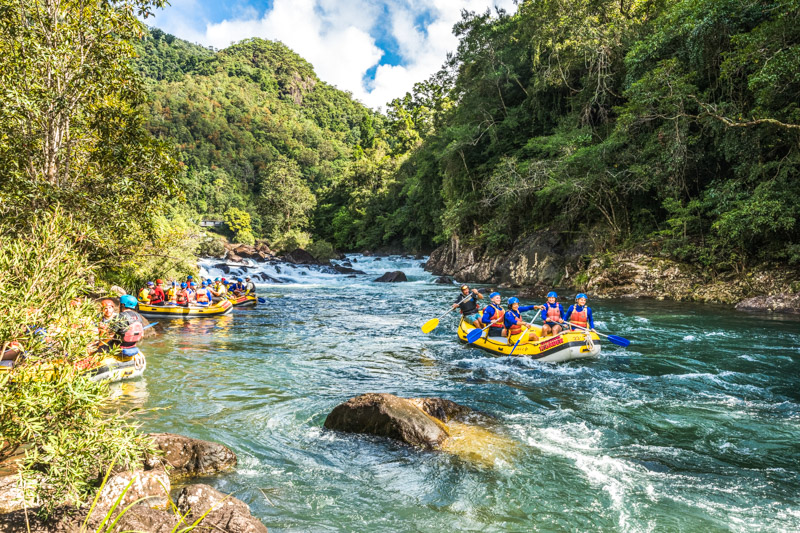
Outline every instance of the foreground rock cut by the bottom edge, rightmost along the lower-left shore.
<svg viewBox="0 0 800 533"><path fill-rule="evenodd" d="M267 528L252 514L243 501L226 496L208 485L184 487L176 500L178 510L191 519L203 516L202 528L229 533L266 533ZM193 521L192 520L192 521Z"/></svg>

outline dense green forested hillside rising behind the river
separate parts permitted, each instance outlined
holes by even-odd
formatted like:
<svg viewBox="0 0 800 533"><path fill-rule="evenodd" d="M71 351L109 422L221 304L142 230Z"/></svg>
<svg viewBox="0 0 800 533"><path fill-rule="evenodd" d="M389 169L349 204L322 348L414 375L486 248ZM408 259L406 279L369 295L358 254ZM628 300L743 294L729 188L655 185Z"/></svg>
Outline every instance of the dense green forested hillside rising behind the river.
<svg viewBox="0 0 800 533"><path fill-rule="evenodd" d="M466 14L386 116L280 43L153 31L151 127L200 213L341 249L550 229L715 269L800 260L800 1L540 0ZM301 237L300 240L302 240Z"/></svg>

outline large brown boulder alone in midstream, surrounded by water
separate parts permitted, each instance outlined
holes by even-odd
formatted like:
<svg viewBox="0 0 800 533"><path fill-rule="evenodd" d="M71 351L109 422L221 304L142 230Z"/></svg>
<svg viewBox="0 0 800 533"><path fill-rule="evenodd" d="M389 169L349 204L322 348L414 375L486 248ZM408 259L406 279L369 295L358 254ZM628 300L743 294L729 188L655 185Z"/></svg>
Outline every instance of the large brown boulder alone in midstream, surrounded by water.
<svg viewBox="0 0 800 533"><path fill-rule="evenodd" d="M423 448L447 439L444 426L406 399L368 393L337 405L325 419L327 429L389 437Z"/></svg>

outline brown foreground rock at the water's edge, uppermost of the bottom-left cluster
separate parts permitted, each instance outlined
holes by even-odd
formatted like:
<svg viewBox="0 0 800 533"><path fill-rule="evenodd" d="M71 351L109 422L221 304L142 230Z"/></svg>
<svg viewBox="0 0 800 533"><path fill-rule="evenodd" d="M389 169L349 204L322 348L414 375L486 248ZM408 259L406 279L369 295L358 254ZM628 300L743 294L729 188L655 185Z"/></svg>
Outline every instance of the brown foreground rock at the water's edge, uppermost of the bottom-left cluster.
<svg viewBox="0 0 800 533"><path fill-rule="evenodd" d="M150 437L163 455L148 457L147 466L169 465L171 475L211 474L236 466L236 454L222 444L173 433L151 433Z"/></svg>

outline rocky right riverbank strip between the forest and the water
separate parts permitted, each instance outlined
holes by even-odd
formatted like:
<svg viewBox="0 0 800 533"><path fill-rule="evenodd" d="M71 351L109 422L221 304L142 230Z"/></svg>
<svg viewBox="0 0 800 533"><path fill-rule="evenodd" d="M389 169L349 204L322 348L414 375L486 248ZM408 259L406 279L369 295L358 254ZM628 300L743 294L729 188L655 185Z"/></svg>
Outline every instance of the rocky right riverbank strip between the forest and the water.
<svg viewBox="0 0 800 533"><path fill-rule="evenodd" d="M678 302L738 304L740 309L800 312L767 297L792 302L800 295L800 272L786 265L761 265L741 273L714 274L688 263L659 257L644 249L596 253L587 240L564 244L559 235L543 232L507 253L488 254L454 237L434 250L426 270L458 281L519 288L539 296L552 287L583 291L599 298L653 298Z"/></svg>

